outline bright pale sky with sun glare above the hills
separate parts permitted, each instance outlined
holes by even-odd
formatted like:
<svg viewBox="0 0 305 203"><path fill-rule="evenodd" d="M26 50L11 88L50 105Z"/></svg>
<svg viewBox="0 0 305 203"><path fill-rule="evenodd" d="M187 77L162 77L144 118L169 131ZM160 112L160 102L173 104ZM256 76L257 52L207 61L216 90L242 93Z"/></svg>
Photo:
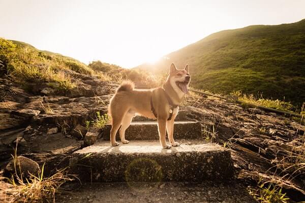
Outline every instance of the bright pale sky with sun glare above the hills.
<svg viewBox="0 0 305 203"><path fill-rule="evenodd" d="M0 0L0 37L124 68L222 30L305 18L305 0Z"/></svg>

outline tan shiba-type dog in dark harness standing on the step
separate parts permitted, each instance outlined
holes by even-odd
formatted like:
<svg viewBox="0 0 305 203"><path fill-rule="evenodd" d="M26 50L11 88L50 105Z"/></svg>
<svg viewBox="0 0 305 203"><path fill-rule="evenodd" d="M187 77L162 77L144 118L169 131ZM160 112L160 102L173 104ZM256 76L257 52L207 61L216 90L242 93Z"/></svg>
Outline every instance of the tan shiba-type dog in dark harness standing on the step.
<svg viewBox="0 0 305 203"><path fill-rule="evenodd" d="M112 127L110 141L113 147L119 143L115 141L115 135L119 130L119 136L123 144L129 143L125 139L125 131L136 115L142 115L150 119L157 119L160 143L163 149L177 147L180 144L174 140L174 120L178 113L178 105L189 94L188 85L191 76L189 66L184 70L178 70L171 64L166 82L162 87L149 90L135 90L131 81L124 81L117 88L111 98L108 113L111 116ZM170 144L166 143L166 131Z"/></svg>

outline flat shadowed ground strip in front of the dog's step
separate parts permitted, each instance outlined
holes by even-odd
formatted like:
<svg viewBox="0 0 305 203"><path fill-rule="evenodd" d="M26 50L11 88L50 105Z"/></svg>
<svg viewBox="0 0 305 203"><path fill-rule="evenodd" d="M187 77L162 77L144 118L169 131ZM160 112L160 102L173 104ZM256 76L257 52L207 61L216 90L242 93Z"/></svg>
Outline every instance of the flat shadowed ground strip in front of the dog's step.
<svg viewBox="0 0 305 203"><path fill-rule="evenodd" d="M71 186L70 186L71 187ZM215 183L86 183L56 202L256 202L241 185Z"/></svg>

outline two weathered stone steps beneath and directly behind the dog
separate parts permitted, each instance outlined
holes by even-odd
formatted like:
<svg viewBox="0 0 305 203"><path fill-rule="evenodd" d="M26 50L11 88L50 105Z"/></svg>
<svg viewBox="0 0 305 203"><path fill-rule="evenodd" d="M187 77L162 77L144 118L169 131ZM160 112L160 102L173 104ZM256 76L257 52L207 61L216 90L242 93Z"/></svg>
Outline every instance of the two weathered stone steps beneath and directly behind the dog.
<svg viewBox="0 0 305 203"><path fill-rule="evenodd" d="M156 121L134 119L125 133L129 144L111 147L107 125L102 139L72 154L72 172L84 182L224 181L234 176L229 150L205 142L201 124L186 121L184 111L174 127L180 146L171 149L160 146Z"/></svg>

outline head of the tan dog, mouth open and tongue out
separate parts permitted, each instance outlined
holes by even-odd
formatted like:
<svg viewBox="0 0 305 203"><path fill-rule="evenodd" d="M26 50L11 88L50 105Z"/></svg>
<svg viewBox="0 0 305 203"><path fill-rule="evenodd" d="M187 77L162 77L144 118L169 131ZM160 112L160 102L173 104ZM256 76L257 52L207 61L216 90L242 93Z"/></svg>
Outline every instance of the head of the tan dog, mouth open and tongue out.
<svg viewBox="0 0 305 203"><path fill-rule="evenodd" d="M179 70L174 64L171 64L168 79L170 80L172 85L177 85L177 87L184 94L189 94L188 86L191 81L189 65L186 65L184 70Z"/></svg>

